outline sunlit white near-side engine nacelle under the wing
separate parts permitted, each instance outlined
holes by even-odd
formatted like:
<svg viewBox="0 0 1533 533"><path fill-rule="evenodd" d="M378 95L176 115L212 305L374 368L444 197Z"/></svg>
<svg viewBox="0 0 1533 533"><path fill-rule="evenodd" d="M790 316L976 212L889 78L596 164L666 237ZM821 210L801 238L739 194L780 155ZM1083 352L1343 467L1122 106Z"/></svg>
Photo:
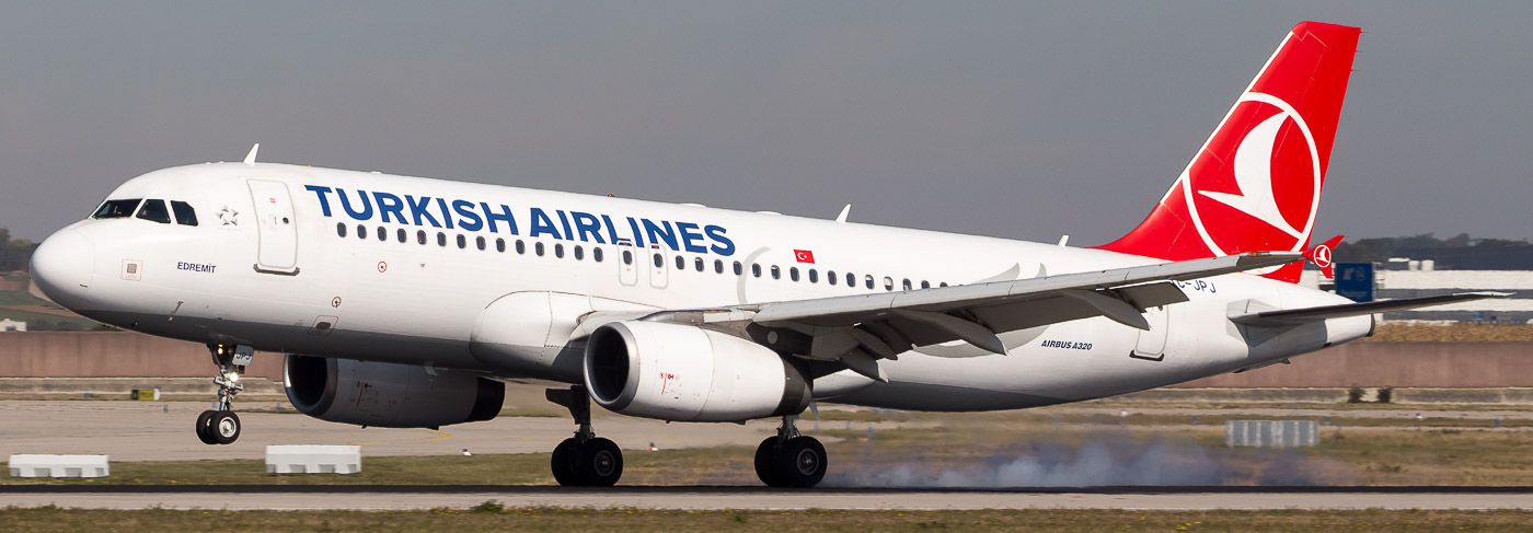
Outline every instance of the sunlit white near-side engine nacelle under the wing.
<svg viewBox="0 0 1533 533"><path fill-rule="evenodd" d="M584 366L596 404L632 417L742 421L809 404L809 381L777 352L696 326L602 325L586 342Z"/></svg>

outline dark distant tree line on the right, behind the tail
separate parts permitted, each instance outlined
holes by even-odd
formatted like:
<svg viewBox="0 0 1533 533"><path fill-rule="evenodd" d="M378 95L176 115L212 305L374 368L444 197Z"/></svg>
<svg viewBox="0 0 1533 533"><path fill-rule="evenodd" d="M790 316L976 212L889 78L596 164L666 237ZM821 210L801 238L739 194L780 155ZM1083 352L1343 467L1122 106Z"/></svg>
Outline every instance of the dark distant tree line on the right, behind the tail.
<svg viewBox="0 0 1533 533"><path fill-rule="evenodd" d="M1390 257L1433 259L1439 262L1439 268L1533 270L1533 244L1527 239L1475 239L1467 233L1438 239L1432 233L1424 233L1409 237L1357 239L1343 242L1335 250L1337 262L1380 262Z"/></svg>

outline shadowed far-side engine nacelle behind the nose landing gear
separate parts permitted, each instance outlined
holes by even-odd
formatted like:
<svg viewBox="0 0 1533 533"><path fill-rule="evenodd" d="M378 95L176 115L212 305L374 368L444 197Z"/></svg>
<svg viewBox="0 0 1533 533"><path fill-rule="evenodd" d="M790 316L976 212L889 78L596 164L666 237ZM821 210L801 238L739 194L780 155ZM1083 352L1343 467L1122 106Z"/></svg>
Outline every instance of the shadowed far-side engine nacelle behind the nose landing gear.
<svg viewBox="0 0 1533 533"><path fill-rule="evenodd" d="M299 412L333 423L440 427L495 418L506 384L458 371L288 354L282 384Z"/></svg>

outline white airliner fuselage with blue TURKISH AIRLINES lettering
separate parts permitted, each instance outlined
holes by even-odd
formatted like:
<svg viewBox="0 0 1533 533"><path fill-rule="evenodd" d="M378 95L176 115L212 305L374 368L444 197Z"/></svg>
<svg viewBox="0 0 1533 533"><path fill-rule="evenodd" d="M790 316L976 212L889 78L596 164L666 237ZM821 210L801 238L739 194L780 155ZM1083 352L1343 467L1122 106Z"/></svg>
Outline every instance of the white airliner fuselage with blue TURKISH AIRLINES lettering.
<svg viewBox="0 0 1533 533"><path fill-rule="evenodd" d="M366 191L366 208L360 191ZM396 208L379 195L403 205ZM570 343L569 322L590 311L717 308L901 291L906 280L909 289L921 289L1160 262L993 237L284 164L166 168L109 196L138 198L187 202L199 224L77 222L49 237L44 248L54 245L52 251L38 250L34 266L51 297L106 323L189 342L569 383L579 381L569 366L579 352L579 342ZM501 219L486 221L486 211ZM632 263L624 254L633 254ZM734 273L736 262L742 274ZM924 346L881 361L889 383L843 371L816 380L814 395L903 409L1015 409L1260 366L1372 328L1363 316L1256 331L1228 317L1348 300L1251 274L1179 285L1190 300L1148 309L1150 331L1098 317L1004 332L1007 355L963 342ZM543 340L526 348L547 358L495 365L477 355L477 331L495 326L483 323L486 308L529 293L556 294L527 300L547 302L535 306L547 305L553 323L547 332L512 337Z"/></svg>

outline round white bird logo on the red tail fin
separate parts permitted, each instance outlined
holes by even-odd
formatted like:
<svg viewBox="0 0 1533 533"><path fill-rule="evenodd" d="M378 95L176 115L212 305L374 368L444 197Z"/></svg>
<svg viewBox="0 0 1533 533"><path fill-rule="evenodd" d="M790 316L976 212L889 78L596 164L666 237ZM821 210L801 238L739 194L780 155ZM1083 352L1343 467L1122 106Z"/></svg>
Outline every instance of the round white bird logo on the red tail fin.
<svg viewBox="0 0 1533 533"><path fill-rule="evenodd" d="M1234 213L1223 211L1228 207L1288 237L1268 236L1265 240L1271 244L1271 250L1302 250L1309 240L1309 231L1315 225L1315 213L1320 208L1321 168L1314 133L1298 110L1268 93L1248 92L1242 95L1231 115L1269 116L1245 132L1233 164L1214 167L1194 162L1188 168L1190 179L1182 179L1182 190L1188 196L1188 211L1199 236L1203 237L1203 244L1214 256L1246 251L1239 248L1240 242L1248 239L1249 224L1206 224L1203 221L1203 213L1213 213L1214 219L1220 221L1234 216ZM1220 135L1237 133L1240 132L1220 132ZM1210 144L1231 146L1234 142L1216 138ZM1286 167L1286 175L1280 175L1286 178L1282 187L1274 184L1274 162ZM1309 168L1300 167L1300 162L1308 162ZM1303 182L1303 175L1308 175L1308 184ZM1210 202L1219 205L1210 205Z"/></svg>

